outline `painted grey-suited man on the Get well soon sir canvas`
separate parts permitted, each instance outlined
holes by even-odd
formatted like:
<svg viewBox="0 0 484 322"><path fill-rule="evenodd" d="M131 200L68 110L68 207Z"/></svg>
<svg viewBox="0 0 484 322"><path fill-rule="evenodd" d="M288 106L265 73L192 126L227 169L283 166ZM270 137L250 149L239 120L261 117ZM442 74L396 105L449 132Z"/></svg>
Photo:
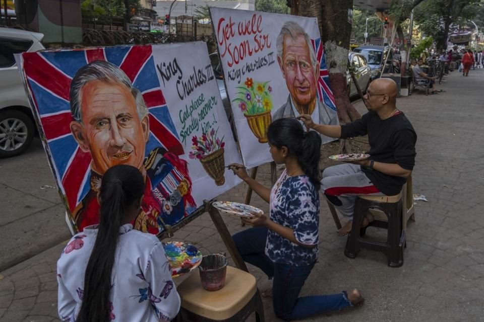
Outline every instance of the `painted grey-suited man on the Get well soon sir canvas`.
<svg viewBox="0 0 484 322"><path fill-rule="evenodd" d="M286 81L289 97L272 116L311 115L320 124L337 125L336 111L317 98L319 62L308 34L297 23L286 22L277 36L277 61ZM323 143L331 141L322 136Z"/></svg>

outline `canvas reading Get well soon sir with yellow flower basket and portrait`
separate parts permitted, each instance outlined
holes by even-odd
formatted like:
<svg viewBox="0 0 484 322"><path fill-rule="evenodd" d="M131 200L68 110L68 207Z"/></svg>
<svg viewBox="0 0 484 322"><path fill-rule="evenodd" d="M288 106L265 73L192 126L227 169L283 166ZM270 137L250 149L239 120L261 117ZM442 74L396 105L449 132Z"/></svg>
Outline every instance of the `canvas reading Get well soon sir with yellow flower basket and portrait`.
<svg viewBox="0 0 484 322"><path fill-rule="evenodd" d="M316 18L214 7L210 14L246 167L272 160L266 132L275 119L311 114L338 124Z"/></svg>

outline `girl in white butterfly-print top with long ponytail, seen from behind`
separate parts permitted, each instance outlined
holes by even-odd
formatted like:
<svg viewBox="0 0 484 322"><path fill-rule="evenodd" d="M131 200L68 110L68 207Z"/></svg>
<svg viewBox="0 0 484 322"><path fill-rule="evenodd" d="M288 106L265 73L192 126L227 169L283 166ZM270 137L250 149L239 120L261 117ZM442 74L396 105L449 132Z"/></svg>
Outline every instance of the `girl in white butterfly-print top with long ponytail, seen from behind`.
<svg viewBox="0 0 484 322"><path fill-rule="evenodd" d="M130 224L144 189L135 167L114 166L104 174L99 225L76 234L57 262L62 320L159 322L178 313L180 297L160 241Z"/></svg>

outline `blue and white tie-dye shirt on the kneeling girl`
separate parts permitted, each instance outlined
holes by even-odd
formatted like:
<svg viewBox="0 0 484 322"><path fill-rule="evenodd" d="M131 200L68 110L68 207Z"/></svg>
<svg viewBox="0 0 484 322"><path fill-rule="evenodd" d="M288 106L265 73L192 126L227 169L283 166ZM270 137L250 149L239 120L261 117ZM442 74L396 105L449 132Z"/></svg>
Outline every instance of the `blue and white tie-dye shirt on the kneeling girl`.
<svg viewBox="0 0 484 322"><path fill-rule="evenodd" d="M284 170L271 190L270 218L291 228L299 243L316 245L314 248L297 245L269 230L265 252L273 262L305 266L317 260L319 194L308 176L289 177Z"/></svg>

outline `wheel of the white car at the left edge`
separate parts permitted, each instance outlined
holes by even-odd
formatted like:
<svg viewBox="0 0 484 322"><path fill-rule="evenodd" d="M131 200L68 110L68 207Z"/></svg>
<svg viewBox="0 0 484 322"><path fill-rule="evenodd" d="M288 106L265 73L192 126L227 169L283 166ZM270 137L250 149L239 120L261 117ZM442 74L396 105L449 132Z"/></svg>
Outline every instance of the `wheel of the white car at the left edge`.
<svg viewBox="0 0 484 322"><path fill-rule="evenodd" d="M30 117L16 110L0 112L0 158L24 152L34 138L34 124Z"/></svg>

